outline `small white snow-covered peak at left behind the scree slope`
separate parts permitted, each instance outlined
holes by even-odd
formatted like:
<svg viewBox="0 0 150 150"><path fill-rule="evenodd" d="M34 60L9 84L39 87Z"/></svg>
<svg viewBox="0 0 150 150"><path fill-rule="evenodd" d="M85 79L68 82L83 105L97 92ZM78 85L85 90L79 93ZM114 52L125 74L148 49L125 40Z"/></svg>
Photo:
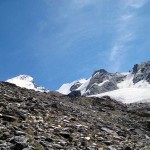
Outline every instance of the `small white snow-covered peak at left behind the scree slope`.
<svg viewBox="0 0 150 150"><path fill-rule="evenodd" d="M40 91L40 92L48 91L44 87L37 86L34 83L33 78L29 75L19 75L17 77L6 80L6 82L13 83L19 87L26 88L26 89L32 89L35 91Z"/></svg>

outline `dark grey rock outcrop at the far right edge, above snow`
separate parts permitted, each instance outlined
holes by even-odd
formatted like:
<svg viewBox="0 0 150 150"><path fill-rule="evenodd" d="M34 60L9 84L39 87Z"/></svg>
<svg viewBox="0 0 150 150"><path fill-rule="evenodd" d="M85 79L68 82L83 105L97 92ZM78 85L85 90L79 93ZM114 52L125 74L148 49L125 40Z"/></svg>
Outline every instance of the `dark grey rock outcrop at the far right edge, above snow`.
<svg viewBox="0 0 150 150"><path fill-rule="evenodd" d="M134 74L133 83L141 80L146 80L150 83L150 61L134 65L132 73Z"/></svg>

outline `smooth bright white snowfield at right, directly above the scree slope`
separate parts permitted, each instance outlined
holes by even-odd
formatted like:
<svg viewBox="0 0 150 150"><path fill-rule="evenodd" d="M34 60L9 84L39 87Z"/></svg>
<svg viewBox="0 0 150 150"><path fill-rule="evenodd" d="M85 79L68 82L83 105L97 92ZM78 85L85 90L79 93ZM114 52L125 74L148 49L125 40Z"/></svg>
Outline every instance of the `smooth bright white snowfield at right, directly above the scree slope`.
<svg viewBox="0 0 150 150"><path fill-rule="evenodd" d="M110 96L123 103L150 102L150 88L123 88L89 97Z"/></svg>

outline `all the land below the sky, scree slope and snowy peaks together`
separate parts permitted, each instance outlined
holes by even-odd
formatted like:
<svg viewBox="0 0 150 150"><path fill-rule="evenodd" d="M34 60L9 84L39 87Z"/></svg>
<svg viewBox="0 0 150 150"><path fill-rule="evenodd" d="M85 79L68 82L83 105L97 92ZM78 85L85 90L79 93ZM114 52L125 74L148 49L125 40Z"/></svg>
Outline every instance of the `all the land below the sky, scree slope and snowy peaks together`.
<svg viewBox="0 0 150 150"><path fill-rule="evenodd" d="M0 150L150 149L150 62L58 91L27 75L0 82Z"/></svg>

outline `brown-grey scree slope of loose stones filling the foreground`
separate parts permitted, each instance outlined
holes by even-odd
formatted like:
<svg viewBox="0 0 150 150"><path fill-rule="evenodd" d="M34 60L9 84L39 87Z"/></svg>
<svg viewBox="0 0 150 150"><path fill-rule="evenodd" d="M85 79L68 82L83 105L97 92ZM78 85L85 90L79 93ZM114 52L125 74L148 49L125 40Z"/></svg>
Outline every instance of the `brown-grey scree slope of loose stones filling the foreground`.
<svg viewBox="0 0 150 150"><path fill-rule="evenodd" d="M149 150L150 104L0 82L0 150Z"/></svg>

